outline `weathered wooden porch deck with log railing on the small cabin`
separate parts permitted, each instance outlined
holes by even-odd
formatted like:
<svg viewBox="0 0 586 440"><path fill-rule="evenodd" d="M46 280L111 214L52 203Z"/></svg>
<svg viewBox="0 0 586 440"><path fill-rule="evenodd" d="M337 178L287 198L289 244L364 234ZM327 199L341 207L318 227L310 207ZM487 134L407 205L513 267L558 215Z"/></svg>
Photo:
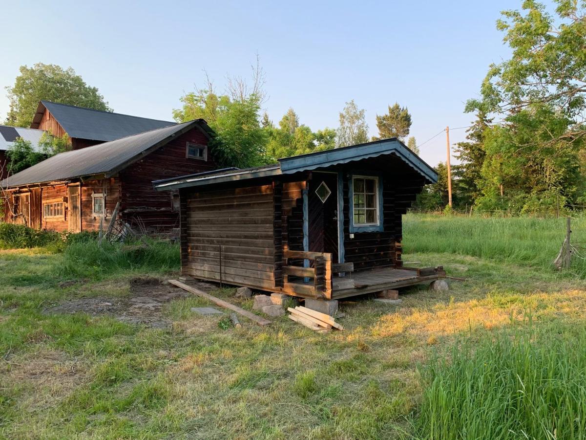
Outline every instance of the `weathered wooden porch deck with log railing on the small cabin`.
<svg viewBox="0 0 586 440"><path fill-rule="evenodd" d="M438 268L375 268L353 272L352 263L333 264L331 253L284 251L284 283L288 295L316 299L349 296L431 283L445 277Z"/></svg>

